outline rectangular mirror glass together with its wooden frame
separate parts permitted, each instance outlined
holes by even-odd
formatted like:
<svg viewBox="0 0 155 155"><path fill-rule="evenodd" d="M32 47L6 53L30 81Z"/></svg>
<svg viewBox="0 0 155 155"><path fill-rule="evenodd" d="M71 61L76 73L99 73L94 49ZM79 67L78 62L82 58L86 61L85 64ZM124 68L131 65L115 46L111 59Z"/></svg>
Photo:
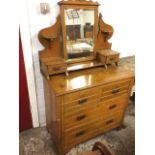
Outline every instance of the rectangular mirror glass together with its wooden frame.
<svg viewBox="0 0 155 155"><path fill-rule="evenodd" d="M96 6L63 6L62 33L67 62L93 60L98 11Z"/></svg>

